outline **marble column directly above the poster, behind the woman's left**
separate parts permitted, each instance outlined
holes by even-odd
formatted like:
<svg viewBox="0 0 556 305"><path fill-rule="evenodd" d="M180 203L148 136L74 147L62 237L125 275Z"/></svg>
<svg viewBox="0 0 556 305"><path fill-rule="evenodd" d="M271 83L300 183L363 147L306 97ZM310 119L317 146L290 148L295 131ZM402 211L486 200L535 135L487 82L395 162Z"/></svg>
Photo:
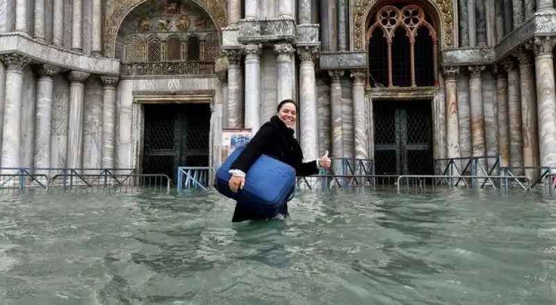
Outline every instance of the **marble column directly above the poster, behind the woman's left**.
<svg viewBox="0 0 556 305"><path fill-rule="evenodd" d="M228 56L228 128L243 128L243 74L239 49L224 50Z"/></svg>

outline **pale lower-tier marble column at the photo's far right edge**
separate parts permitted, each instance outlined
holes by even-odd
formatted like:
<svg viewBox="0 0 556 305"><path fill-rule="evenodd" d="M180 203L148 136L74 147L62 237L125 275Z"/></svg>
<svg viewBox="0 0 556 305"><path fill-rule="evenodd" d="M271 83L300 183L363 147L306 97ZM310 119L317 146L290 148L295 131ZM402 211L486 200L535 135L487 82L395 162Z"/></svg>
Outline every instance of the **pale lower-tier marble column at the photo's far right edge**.
<svg viewBox="0 0 556 305"><path fill-rule="evenodd" d="M541 1L542 3L542 1ZM534 38L537 77L537 108L541 166L556 167L556 85L554 81L554 38Z"/></svg>

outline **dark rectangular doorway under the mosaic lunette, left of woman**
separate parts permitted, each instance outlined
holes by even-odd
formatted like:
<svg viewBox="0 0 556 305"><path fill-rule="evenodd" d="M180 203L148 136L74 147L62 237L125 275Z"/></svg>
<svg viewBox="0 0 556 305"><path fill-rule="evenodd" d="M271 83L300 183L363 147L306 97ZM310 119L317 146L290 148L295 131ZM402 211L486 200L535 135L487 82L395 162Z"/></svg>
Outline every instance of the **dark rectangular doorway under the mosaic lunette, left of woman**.
<svg viewBox="0 0 556 305"><path fill-rule="evenodd" d="M208 104L145 104L144 174L167 174L180 166L208 166L211 108Z"/></svg>

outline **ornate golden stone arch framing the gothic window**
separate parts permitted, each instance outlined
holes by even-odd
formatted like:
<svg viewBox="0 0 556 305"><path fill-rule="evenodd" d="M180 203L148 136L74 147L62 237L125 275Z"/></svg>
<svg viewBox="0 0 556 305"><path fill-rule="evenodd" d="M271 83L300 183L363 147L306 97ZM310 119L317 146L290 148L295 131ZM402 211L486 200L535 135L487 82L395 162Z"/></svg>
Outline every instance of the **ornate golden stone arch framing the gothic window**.
<svg viewBox="0 0 556 305"><path fill-rule="evenodd" d="M439 33L439 46L441 49L454 48L454 6L451 0L416 0L416 1L400 1L414 3L430 14L432 19L436 20L434 27ZM373 17L379 8L385 6L392 1L388 0L356 0L353 5L353 30L354 30L354 49L356 51L366 51L369 19Z"/></svg>

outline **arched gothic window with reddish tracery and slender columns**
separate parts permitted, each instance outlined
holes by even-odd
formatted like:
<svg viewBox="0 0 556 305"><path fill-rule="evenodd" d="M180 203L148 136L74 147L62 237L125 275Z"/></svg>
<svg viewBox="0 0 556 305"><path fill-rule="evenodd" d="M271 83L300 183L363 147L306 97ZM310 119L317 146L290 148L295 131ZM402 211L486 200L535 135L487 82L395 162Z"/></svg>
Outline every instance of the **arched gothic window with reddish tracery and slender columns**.
<svg viewBox="0 0 556 305"><path fill-rule="evenodd" d="M373 87L437 85L436 31L418 6L382 7L367 31Z"/></svg>

